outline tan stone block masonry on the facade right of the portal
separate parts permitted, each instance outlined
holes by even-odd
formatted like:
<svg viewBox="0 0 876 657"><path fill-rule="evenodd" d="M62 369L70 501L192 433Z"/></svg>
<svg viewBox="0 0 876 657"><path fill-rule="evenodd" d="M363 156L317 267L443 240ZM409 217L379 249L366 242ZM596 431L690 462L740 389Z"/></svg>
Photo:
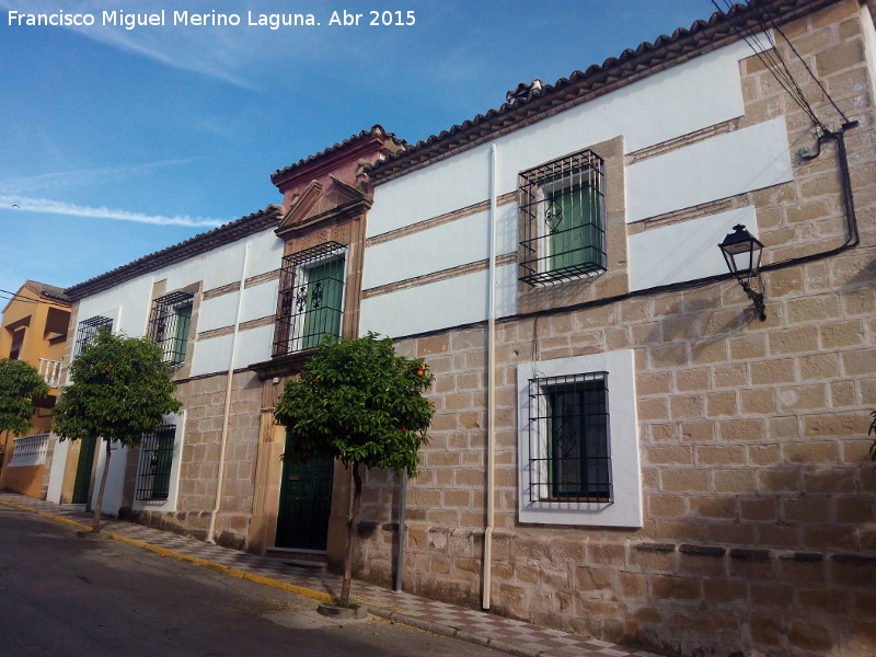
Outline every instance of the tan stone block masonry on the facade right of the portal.
<svg viewBox="0 0 876 657"><path fill-rule="evenodd" d="M835 145L797 158L811 125L760 60L744 61L740 125L784 115L795 177L727 203L756 207L764 262L809 257L764 274L765 322L722 281L498 323L497 613L678 655L876 653L876 129L858 4L784 32L860 122L846 132L860 244L816 255L848 237ZM477 607L486 328L396 348L436 374L430 442L408 489L405 589ZM516 367L616 349L635 353L644 526L520 523ZM358 568L372 580L393 575L396 495L393 477L369 473Z"/></svg>

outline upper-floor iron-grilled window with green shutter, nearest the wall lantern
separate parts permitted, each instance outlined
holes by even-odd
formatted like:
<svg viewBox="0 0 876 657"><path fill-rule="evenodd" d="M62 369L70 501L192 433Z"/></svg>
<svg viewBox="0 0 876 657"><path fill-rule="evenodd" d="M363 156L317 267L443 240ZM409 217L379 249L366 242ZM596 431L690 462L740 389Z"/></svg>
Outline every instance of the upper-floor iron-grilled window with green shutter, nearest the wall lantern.
<svg viewBox="0 0 876 657"><path fill-rule="evenodd" d="M519 278L548 285L606 270L604 168L590 150L519 176Z"/></svg>

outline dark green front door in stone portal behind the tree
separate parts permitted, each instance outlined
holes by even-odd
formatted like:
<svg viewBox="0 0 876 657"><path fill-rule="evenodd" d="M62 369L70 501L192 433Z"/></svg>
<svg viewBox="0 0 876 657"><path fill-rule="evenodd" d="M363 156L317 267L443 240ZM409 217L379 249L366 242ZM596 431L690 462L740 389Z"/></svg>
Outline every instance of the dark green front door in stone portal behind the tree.
<svg viewBox="0 0 876 657"><path fill-rule="evenodd" d="M333 470L332 461L283 464L277 548L325 550Z"/></svg>

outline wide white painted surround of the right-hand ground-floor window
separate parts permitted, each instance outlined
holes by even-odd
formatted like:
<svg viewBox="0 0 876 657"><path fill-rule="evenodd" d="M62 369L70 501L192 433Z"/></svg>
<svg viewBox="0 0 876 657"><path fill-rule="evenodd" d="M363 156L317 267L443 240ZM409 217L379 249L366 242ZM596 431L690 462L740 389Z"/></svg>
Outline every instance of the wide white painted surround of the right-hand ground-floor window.
<svg viewBox="0 0 876 657"><path fill-rule="evenodd" d="M546 450L545 441L549 438L545 426L529 426L530 379L601 371L608 372L609 450L613 499L612 502L540 500L537 495L530 495L533 479L539 481L537 476L533 477L533 468L540 466L538 464L540 454L532 454L533 448L530 445L534 435L535 449L544 447ZM519 365L517 403L520 522L630 528L643 526L635 357L632 349Z"/></svg>

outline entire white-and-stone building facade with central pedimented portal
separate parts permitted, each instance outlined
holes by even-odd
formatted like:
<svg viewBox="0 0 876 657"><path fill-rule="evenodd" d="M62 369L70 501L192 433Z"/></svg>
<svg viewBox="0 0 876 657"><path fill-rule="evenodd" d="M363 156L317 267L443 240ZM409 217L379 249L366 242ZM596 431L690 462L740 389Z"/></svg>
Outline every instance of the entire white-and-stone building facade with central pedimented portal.
<svg viewBox="0 0 876 657"><path fill-rule="evenodd" d="M668 654L873 654L873 10L752 2L415 146L376 126L70 288L67 358L150 335L184 403L104 509L337 561L347 473L285 466L273 407L376 331L437 413L415 480L368 473L360 577ZM49 499L89 502L91 450L56 446Z"/></svg>

